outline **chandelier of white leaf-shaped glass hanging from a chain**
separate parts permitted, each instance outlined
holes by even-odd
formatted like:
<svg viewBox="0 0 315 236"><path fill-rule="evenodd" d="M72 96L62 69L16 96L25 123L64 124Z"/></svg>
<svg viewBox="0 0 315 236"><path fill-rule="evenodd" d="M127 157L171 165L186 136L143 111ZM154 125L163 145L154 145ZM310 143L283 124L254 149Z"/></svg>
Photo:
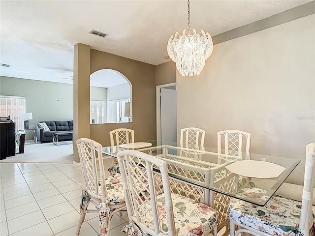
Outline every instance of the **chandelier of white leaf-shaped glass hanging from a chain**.
<svg viewBox="0 0 315 236"><path fill-rule="evenodd" d="M188 35L184 29L183 35L178 32L171 36L167 44L167 53L176 62L176 68L182 76L199 75L213 50L213 42L209 33L202 29L190 34L190 8L188 0Z"/></svg>

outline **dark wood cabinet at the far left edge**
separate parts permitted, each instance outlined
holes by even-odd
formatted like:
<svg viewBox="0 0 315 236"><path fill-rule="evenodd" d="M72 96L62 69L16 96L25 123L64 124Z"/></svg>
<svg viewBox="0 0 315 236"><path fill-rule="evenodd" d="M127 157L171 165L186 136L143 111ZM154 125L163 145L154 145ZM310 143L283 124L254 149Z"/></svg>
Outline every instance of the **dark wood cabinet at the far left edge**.
<svg viewBox="0 0 315 236"><path fill-rule="evenodd" d="M15 123L0 122L0 159L15 156Z"/></svg>

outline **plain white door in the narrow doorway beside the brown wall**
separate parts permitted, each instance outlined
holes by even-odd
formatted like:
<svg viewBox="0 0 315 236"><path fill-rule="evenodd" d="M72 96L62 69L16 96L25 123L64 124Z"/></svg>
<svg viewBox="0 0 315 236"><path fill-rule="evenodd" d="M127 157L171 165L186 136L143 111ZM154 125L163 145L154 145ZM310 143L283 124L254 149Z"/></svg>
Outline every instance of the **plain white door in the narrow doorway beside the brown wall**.
<svg viewBox="0 0 315 236"><path fill-rule="evenodd" d="M161 144L177 143L176 86L160 89Z"/></svg>

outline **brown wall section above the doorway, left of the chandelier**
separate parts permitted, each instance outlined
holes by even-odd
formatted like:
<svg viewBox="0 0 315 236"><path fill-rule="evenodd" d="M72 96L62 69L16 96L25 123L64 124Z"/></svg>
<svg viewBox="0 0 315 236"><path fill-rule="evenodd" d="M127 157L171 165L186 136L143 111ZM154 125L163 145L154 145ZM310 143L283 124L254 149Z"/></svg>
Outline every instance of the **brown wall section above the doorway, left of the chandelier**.
<svg viewBox="0 0 315 236"><path fill-rule="evenodd" d="M176 64L168 61L156 66L156 85L166 85L176 82Z"/></svg>

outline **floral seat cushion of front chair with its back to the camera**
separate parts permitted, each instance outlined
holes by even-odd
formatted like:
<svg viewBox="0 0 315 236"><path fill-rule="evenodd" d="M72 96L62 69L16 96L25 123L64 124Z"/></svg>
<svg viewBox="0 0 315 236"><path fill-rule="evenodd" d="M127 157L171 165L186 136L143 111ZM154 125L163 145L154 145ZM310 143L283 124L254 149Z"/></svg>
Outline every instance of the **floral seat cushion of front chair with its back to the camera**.
<svg viewBox="0 0 315 236"><path fill-rule="evenodd" d="M174 193L172 201L177 236L208 234L218 223L218 214L211 207ZM161 228L168 231L164 195L157 196L157 202ZM148 220L147 224L152 228L153 220Z"/></svg>

